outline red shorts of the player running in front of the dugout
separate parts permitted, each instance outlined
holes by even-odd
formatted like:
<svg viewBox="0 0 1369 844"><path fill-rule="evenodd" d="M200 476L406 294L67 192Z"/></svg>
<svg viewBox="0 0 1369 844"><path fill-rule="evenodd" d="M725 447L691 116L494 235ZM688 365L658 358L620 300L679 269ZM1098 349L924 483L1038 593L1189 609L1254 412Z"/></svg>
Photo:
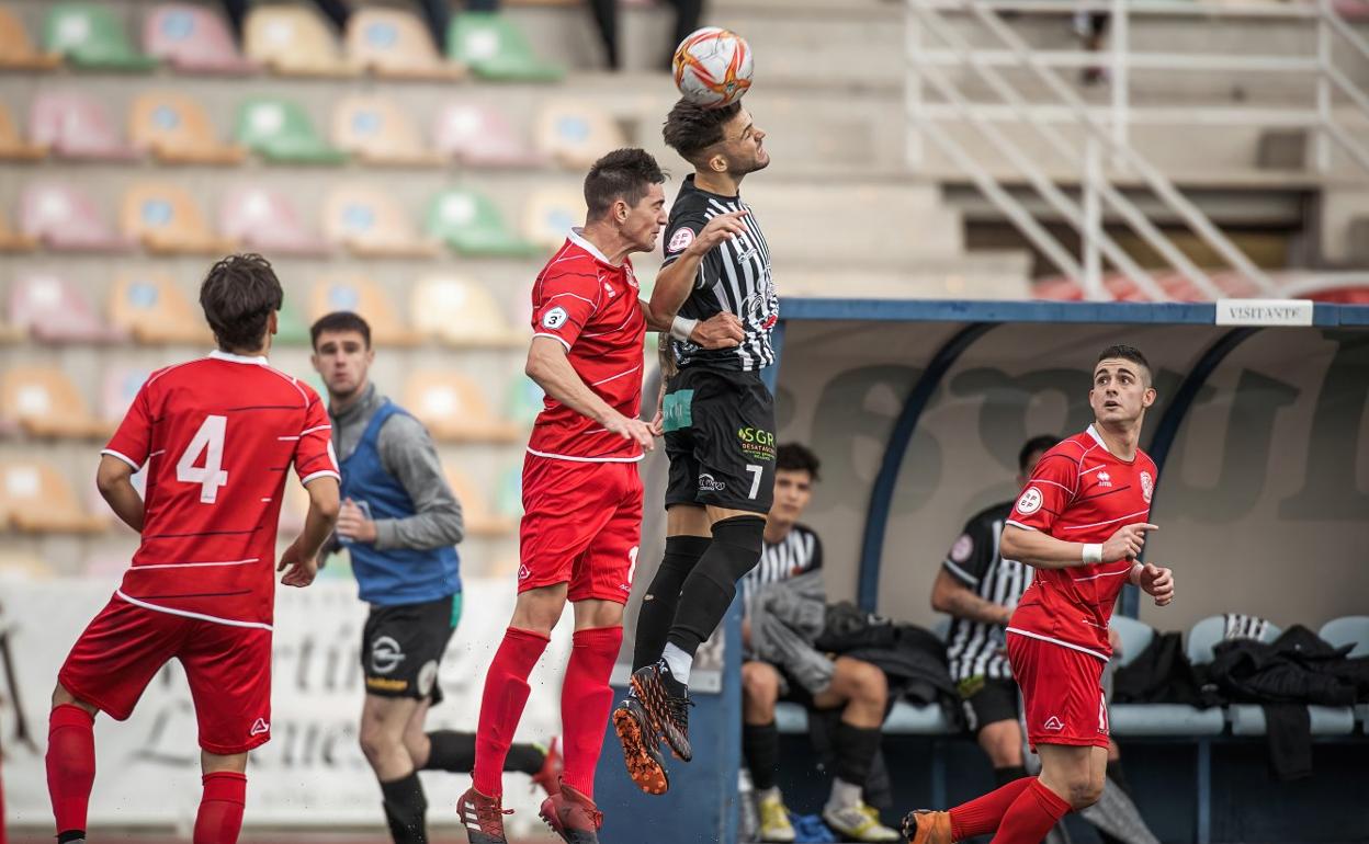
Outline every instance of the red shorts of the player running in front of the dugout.
<svg viewBox="0 0 1369 844"><path fill-rule="evenodd" d="M1108 747L1103 662L1083 651L1009 631L1008 661L1023 689L1027 740Z"/></svg>

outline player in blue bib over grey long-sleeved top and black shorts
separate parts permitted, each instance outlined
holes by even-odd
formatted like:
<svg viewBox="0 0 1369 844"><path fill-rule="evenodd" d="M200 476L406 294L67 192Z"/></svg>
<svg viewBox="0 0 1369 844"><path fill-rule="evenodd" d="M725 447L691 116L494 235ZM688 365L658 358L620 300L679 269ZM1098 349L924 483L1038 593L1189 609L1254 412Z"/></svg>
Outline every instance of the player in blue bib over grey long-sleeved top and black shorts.
<svg viewBox="0 0 1369 844"><path fill-rule="evenodd" d="M442 700L437 670L461 617L461 505L423 424L370 383L375 350L366 320L329 313L309 334L342 471L334 547L348 550L371 605L361 633L361 751L381 782L394 843L426 844L418 772L470 773L475 763L472 733L423 728L428 707ZM554 751L516 744L507 767L554 789L559 763Z"/></svg>

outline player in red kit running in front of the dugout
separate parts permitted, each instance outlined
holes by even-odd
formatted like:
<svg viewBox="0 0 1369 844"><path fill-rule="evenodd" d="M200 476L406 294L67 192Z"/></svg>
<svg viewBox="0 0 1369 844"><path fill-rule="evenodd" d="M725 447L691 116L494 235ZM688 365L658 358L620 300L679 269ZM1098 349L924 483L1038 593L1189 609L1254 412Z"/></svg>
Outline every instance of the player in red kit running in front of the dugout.
<svg viewBox="0 0 1369 844"><path fill-rule="evenodd" d="M1136 562L1155 490L1140 450L1155 402L1146 356L1109 346L1094 365L1094 424L1046 451L1003 527L1002 555L1036 569L1008 624L1008 659L1021 687L1027 740L1040 776L1023 777L950 811L904 818L913 844L994 833L993 844L1038 844L1062 817L1092 806L1108 767L1101 676L1112 655L1108 621L1124 583L1175 596L1173 573Z"/></svg>

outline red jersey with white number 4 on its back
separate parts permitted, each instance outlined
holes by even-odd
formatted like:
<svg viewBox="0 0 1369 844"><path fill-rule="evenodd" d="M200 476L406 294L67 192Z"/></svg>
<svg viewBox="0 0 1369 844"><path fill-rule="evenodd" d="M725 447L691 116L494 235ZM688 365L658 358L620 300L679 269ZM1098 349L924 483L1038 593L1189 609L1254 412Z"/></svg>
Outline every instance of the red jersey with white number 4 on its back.
<svg viewBox="0 0 1369 844"><path fill-rule="evenodd" d="M153 372L101 454L148 468L142 543L118 596L270 627L286 471L341 480L318 393L264 357L215 352Z"/></svg>

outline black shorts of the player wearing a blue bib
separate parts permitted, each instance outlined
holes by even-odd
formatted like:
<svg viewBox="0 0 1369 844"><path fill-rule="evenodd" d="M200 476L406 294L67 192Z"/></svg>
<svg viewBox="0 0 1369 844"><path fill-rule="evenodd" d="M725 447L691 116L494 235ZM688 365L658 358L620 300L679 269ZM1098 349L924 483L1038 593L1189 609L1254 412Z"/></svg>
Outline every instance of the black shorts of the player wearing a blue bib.
<svg viewBox="0 0 1369 844"><path fill-rule="evenodd" d="M361 631L366 694L441 703L437 666L460 618L460 592L427 603L372 605Z"/></svg>

